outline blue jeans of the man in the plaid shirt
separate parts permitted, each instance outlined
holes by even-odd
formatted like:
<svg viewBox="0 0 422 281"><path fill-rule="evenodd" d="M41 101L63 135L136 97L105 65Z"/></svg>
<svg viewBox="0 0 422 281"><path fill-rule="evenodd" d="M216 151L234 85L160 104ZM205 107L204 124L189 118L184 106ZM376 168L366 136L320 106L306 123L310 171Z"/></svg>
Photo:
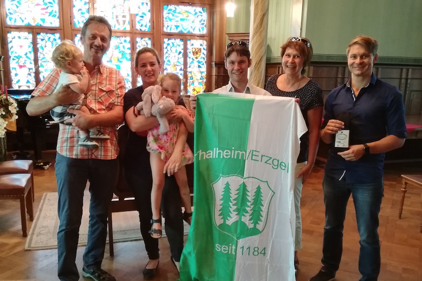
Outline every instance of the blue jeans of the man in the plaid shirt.
<svg viewBox="0 0 422 281"><path fill-rule="evenodd" d="M79 280L76 267L79 227L84 190L90 182L90 219L88 241L83 255L87 269L101 268L107 239L107 216L117 181L117 159L74 159L57 153L54 165L59 193L57 232L58 277L62 281Z"/></svg>

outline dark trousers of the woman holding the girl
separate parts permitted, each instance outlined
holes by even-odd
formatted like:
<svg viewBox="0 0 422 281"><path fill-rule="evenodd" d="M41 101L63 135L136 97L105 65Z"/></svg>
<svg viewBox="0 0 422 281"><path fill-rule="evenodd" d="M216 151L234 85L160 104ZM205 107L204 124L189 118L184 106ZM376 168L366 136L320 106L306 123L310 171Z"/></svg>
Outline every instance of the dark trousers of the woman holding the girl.
<svg viewBox="0 0 422 281"><path fill-rule="evenodd" d="M139 211L141 235L145 243L145 250L149 259L158 259L158 239L152 238L148 231L151 229L151 190L152 175L145 177L139 171L124 170L126 183L135 195ZM165 176L163 195L161 199L161 212L165 218L165 234L170 244L171 256L175 261L180 261L183 251L183 217L179 187L174 176Z"/></svg>

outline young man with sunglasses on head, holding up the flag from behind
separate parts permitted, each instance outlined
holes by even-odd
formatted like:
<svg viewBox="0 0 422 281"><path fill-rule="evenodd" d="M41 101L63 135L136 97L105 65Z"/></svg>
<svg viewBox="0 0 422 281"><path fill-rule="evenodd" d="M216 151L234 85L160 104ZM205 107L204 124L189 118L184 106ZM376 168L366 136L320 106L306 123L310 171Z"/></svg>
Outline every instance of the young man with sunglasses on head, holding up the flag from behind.
<svg viewBox="0 0 422 281"><path fill-rule="evenodd" d="M213 93L235 92L253 95L271 96L266 90L251 85L248 80L248 68L251 67L251 52L244 41L233 41L227 45L224 53L224 66L230 77L229 84L213 90ZM196 96L189 98L190 108L196 108Z"/></svg>

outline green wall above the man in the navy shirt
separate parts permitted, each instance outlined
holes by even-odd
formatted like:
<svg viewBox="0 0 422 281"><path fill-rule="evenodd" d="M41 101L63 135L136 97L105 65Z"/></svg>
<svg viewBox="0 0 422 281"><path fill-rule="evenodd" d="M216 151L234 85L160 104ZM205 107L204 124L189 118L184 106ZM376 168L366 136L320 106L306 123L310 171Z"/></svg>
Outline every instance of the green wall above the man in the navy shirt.
<svg viewBox="0 0 422 281"><path fill-rule="evenodd" d="M374 37L379 56L422 58L422 0L307 0L303 35L314 54L345 55L358 35Z"/></svg>

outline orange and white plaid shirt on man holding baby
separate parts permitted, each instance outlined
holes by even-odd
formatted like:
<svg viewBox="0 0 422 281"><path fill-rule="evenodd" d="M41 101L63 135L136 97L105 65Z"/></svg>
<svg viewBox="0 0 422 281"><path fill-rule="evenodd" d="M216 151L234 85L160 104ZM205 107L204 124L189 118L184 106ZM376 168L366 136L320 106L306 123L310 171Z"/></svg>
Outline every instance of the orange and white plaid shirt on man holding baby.
<svg viewBox="0 0 422 281"><path fill-rule="evenodd" d="M43 97L54 92L60 76L60 69L54 69L37 86L32 95ZM91 90L85 95L84 105L91 114L105 113L114 106L123 106L123 95L126 91L123 76L120 72L106 65L96 66L90 73ZM59 124L57 152L63 156L77 159L115 159L118 154L117 125L98 127L109 140L100 140L98 149L87 149L78 146L78 130L69 125Z"/></svg>

